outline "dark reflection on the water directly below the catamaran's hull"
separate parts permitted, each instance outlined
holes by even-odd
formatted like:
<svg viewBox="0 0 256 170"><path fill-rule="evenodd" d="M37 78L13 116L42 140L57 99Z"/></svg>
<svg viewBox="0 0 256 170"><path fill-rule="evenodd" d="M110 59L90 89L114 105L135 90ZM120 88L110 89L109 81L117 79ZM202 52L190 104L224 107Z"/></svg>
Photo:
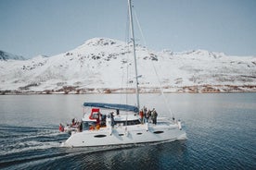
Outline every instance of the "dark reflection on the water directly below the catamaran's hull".
<svg viewBox="0 0 256 170"><path fill-rule="evenodd" d="M83 169L162 169L172 167L174 160L185 159L186 140L75 150L76 155L63 159Z"/></svg>

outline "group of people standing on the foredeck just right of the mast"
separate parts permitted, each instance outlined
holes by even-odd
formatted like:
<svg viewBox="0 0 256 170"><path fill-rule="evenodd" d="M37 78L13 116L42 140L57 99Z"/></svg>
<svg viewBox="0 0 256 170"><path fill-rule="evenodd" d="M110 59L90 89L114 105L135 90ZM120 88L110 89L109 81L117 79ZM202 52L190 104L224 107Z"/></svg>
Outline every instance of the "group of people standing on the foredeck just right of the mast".
<svg viewBox="0 0 256 170"><path fill-rule="evenodd" d="M143 107L143 109L141 109L141 111L139 112L140 115L140 120L141 123L153 123L153 124L157 124L157 117L158 117L158 113L156 111L155 108L153 108L152 110L147 110L147 107Z"/></svg>

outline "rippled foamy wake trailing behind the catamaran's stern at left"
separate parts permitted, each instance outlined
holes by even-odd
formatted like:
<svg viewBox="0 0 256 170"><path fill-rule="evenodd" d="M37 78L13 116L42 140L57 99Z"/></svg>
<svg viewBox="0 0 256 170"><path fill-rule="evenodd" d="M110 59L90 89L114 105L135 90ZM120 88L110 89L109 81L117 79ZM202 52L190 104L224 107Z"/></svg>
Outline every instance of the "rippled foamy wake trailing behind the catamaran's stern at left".
<svg viewBox="0 0 256 170"><path fill-rule="evenodd" d="M27 164L31 161L63 155L61 152L52 151L57 150L59 142L67 138L67 134L59 133L58 128L55 127L33 128L1 125L0 167Z"/></svg>

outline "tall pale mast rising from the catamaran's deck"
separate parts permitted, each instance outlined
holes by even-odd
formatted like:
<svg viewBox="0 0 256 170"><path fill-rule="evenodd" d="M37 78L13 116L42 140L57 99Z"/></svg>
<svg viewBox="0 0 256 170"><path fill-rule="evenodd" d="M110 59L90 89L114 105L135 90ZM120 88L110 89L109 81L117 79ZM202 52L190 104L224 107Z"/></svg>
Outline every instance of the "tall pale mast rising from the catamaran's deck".
<svg viewBox="0 0 256 170"><path fill-rule="evenodd" d="M134 47L134 67L135 67L135 80L136 80L136 100L137 100L137 107L139 109L138 73L137 73L135 39L134 39L134 23L133 23L133 14L132 14L131 0L128 0L128 6L129 6L129 18L130 18L130 30L131 30L131 36L132 36L131 40L133 42L133 47Z"/></svg>

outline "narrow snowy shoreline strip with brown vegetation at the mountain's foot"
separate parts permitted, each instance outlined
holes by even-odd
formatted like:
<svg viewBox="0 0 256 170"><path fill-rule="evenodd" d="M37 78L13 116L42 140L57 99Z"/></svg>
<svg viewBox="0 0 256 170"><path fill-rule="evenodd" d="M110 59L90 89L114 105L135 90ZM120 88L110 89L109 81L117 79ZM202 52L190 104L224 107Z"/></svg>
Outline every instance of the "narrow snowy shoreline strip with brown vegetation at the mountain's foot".
<svg viewBox="0 0 256 170"><path fill-rule="evenodd" d="M184 87L141 87L140 93L234 93L234 92L256 92L256 85L200 85ZM29 94L118 94L118 93L135 93L133 88L87 88L79 89L78 87L63 87L59 90L44 91L18 91L6 90L0 91L0 95L29 95Z"/></svg>

